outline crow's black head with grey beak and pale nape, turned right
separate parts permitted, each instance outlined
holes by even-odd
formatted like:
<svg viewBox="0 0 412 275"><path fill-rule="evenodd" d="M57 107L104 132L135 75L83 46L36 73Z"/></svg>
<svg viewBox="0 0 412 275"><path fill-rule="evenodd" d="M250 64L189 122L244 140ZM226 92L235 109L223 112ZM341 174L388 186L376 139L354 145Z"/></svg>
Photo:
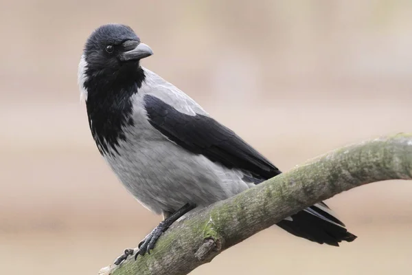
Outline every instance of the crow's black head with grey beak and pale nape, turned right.
<svg viewBox="0 0 412 275"><path fill-rule="evenodd" d="M102 25L91 33L84 45L78 68L78 84L87 99L87 82L113 83L131 79L139 61L153 54L150 47L127 25ZM89 83L92 85L92 83Z"/></svg>

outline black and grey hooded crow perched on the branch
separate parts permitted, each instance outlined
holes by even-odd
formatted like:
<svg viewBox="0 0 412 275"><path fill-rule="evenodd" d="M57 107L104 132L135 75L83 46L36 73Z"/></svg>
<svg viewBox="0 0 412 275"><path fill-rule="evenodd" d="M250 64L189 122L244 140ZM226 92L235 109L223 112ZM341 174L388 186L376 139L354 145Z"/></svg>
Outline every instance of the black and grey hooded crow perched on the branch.
<svg viewBox="0 0 412 275"><path fill-rule="evenodd" d="M141 66L152 54L130 26L109 23L91 32L78 65L98 151L137 201L163 215L139 243L135 259L150 254L161 234L188 212L282 173L190 96ZM277 225L320 244L357 238L324 202ZM133 253L126 249L116 264Z"/></svg>

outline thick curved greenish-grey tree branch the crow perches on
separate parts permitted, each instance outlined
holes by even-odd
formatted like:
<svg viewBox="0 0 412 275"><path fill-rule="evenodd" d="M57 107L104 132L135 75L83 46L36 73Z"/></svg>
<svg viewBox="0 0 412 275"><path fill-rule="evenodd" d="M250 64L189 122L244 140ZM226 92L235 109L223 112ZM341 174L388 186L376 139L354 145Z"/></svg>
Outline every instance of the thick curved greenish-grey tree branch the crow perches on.
<svg viewBox="0 0 412 275"><path fill-rule="evenodd" d="M150 255L101 275L181 275L314 203L374 181L412 179L412 134L380 137L311 159L176 222Z"/></svg>

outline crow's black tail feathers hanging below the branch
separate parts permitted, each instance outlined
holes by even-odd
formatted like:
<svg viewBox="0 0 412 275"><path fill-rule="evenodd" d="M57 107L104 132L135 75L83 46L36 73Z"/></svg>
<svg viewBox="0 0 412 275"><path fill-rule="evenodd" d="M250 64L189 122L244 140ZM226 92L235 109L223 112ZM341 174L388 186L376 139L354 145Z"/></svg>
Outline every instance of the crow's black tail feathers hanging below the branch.
<svg viewBox="0 0 412 275"><path fill-rule="evenodd" d="M297 212L277 225L295 236L328 245L339 246L341 241L351 242L356 239L323 202Z"/></svg>

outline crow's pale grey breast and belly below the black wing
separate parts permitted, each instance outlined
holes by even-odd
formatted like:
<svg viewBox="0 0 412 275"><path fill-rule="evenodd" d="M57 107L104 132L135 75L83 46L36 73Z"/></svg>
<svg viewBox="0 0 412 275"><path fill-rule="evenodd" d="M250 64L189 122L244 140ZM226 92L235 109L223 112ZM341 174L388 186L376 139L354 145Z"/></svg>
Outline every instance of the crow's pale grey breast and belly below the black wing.
<svg viewBox="0 0 412 275"><path fill-rule="evenodd" d="M152 128L141 105L133 99L133 126L124 128L118 154L105 159L126 189L146 208L160 214L185 203L207 206L247 189L242 173L194 155ZM251 184L249 184L251 185Z"/></svg>

